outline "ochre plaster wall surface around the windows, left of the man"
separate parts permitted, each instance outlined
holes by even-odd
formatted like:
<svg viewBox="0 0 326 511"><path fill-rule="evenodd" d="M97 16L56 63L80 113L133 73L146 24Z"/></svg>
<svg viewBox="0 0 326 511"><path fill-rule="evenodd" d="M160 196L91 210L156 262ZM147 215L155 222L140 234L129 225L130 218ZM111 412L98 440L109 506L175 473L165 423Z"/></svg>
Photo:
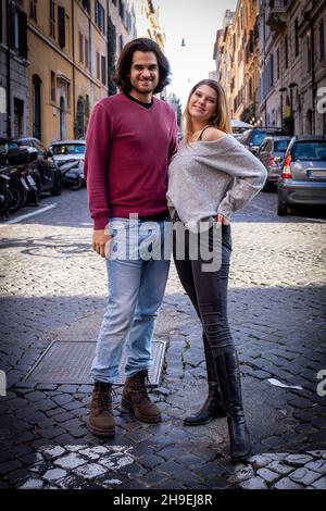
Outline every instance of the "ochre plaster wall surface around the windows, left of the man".
<svg viewBox="0 0 326 511"><path fill-rule="evenodd" d="M101 2L106 8L106 2ZM95 24L95 2L90 2L90 17L78 1L60 0L55 2L55 35L50 36L50 2L42 1L37 11L37 23L28 16L28 61L29 61L29 126L33 136L34 94L33 76L41 80L41 141L49 146L60 140L60 98L64 101L65 129L62 138L73 139L76 135L78 98L87 101L84 107L84 126L92 105L108 96L106 84L97 79L96 51L106 58L106 34L103 35ZM38 2L40 5L40 2ZM65 9L65 47L60 48L58 37L58 5ZM106 10L105 10L106 27ZM79 59L79 33L84 36L84 62ZM85 37L89 41L89 66L85 63ZM55 98L51 98L51 72L54 73ZM106 73L108 74L108 73Z"/></svg>

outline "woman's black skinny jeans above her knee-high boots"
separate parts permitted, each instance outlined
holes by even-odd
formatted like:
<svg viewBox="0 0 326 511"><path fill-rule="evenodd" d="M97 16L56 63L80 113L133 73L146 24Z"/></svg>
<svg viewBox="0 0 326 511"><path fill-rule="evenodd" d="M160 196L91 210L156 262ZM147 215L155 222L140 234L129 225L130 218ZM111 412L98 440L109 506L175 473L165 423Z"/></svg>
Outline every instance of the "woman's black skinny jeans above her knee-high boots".
<svg viewBox="0 0 326 511"><path fill-rule="evenodd" d="M179 219L177 214L173 219L174 224ZM209 246L210 250L213 248L213 229L210 228ZM189 296L197 314L201 321L203 328L203 340L205 349L210 349L212 356L215 358L226 351L235 349L233 337L227 321L227 285L231 254L231 237L230 225L222 226L222 246L214 247L215 250L222 250L221 267L214 272L203 272L203 261L200 257L196 260L189 258L189 236L197 236L193 233L189 234L186 230L185 236L185 259L178 260L176 258L176 249L179 242L183 242L181 236L178 235L178 228L173 233L173 256L175 265L185 288ZM215 240L216 241L216 240ZM220 242L217 244L220 245Z"/></svg>

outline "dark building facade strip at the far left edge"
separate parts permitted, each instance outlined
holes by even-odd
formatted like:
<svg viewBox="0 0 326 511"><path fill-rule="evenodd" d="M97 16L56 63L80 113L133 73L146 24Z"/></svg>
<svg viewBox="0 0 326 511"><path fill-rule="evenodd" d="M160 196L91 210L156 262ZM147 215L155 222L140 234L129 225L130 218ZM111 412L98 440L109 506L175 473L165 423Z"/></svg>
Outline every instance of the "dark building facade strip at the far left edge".
<svg viewBox="0 0 326 511"><path fill-rule="evenodd" d="M27 1L0 2L0 137L28 127Z"/></svg>

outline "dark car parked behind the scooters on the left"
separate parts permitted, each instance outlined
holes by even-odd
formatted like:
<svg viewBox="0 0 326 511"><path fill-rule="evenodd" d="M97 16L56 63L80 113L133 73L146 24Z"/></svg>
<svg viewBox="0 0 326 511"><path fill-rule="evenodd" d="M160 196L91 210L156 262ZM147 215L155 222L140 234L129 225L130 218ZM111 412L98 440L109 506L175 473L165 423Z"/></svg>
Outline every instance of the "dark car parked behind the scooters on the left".
<svg viewBox="0 0 326 511"><path fill-rule="evenodd" d="M50 191L53 196L61 195L61 173L54 165L51 154L47 151L40 140L34 137L24 137L18 138L17 144L20 146L34 147L37 150L37 159L34 163L36 171L34 179L36 180L39 192Z"/></svg>

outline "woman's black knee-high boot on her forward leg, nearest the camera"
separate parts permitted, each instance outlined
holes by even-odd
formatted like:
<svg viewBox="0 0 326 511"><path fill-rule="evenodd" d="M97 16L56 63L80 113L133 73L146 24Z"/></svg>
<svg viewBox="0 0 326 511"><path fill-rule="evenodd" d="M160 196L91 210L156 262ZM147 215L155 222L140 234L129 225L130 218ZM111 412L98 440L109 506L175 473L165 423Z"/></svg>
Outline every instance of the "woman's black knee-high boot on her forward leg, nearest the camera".
<svg viewBox="0 0 326 511"><path fill-rule="evenodd" d="M214 359L227 415L230 457L234 461L244 461L251 454L251 443L243 413L237 352L215 354Z"/></svg>

